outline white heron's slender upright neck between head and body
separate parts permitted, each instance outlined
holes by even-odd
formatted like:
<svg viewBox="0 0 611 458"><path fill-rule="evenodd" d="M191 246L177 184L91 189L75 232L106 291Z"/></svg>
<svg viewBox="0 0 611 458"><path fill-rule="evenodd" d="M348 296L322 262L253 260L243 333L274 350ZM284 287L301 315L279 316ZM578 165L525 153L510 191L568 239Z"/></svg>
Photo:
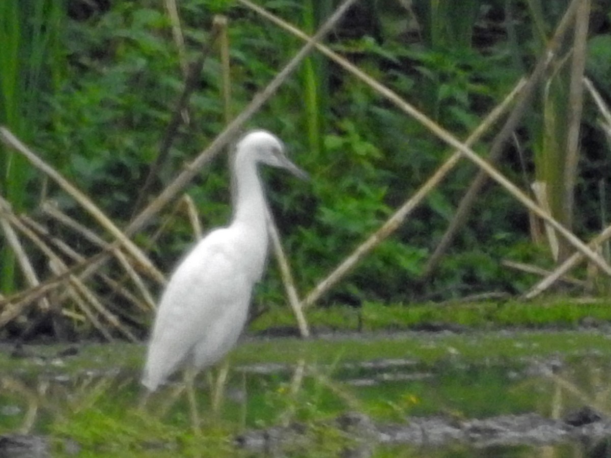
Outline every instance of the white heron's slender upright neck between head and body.
<svg viewBox="0 0 611 458"><path fill-rule="evenodd" d="M233 219L255 231L267 232L266 202L255 164L247 151L238 151L233 163Z"/></svg>

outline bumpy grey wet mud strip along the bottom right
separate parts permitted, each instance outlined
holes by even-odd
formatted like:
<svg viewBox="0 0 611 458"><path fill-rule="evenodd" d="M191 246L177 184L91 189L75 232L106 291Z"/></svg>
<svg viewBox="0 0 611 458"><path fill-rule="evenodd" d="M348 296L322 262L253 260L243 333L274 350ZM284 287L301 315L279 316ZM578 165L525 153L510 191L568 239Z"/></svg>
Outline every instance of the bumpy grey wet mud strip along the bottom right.
<svg viewBox="0 0 611 458"><path fill-rule="evenodd" d="M443 448L455 443L487 448L566 442L591 448L611 437L611 419L604 418L590 407L569 413L559 420L525 413L473 420L444 416L411 417L404 423L376 423L363 413L350 412L338 416L333 424L327 426L338 427L355 443L360 443L361 448L383 444ZM236 444L250 451L274 455L286 445L303 442L307 430L304 424L299 423L254 429L236 437Z"/></svg>

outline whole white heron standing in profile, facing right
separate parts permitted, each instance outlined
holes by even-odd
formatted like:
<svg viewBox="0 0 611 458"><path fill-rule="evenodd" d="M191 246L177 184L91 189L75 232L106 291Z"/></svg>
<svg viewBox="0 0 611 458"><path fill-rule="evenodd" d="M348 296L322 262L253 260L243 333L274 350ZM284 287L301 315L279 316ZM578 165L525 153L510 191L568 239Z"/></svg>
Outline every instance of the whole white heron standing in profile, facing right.
<svg viewBox="0 0 611 458"><path fill-rule="evenodd" d="M157 310L142 384L155 391L181 366L202 369L221 360L246 324L252 287L268 252L267 205L257 166L307 174L291 162L282 142L263 131L236 145L231 223L200 240L172 274Z"/></svg>

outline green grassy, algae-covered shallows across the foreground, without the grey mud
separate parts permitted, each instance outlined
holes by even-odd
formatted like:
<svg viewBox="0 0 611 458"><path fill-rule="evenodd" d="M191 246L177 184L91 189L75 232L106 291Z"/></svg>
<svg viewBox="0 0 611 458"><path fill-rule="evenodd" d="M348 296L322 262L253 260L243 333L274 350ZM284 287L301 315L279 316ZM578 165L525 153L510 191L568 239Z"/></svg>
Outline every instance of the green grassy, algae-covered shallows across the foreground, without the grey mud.
<svg viewBox="0 0 611 458"><path fill-rule="evenodd" d="M26 347L38 355L28 358L0 353L0 434L31 424L31 431L53 439L54 456L69 456L75 443L83 456L251 456L235 448L236 435L296 423L302 435L288 442L287 454L337 456L355 445L334 420L347 411L401 423L427 415L457 421L524 412L551 416L588 399L596 409L609 409L600 388L611 381L611 341L595 331L244 341L229 358L221 412L211 410L206 377L197 379L199 433L192 431L180 382L148 399L145 412L139 409L143 346L90 344L73 356L40 358L64 347ZM548 361L562 362L554 376L538 369ZM276 364L281 366L273 370ZM272 370L261 370L266 367ZM375 383L357 383L362 380ZM15 407L20 413L11 413Z"/></svg>

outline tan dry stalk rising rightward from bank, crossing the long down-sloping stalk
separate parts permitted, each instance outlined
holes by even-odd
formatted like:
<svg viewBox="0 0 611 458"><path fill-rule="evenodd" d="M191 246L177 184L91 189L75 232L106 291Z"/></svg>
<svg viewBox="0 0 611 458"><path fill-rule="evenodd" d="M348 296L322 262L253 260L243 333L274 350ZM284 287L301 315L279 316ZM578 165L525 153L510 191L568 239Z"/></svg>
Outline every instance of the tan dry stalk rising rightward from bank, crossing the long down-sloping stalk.
<svg viewBox="0 0 611 458"><path fill-rule="evenodd" d="M481 122L481 124L475 129L475 131L469 136L466 141L466 144L470 145L477 142L483 134L491 128L494 123L499 120L501 115L507 111L508 107L513 102L514 98L519 94L519 92L524 88L525 80L522 79L518 82L516 87L511 91L511 93L505 97L505 100L502 101L498 106L496 106L490 114ZM408 215L422 202L422 200L426 197L426 195L434 189L441 182L441 180L453 169L453 167L458 164L458 161L461 159L462 154L459 151L455 151L455 153L450 156L450 158L445 161L439 169L436 170L435 173L426 181L425 184L420 186L418 191L415 192L412 197L410 197L387 221L379 228L375 233L371 234L371 236L363 242L359 247L357 247L354 252L351 253L345 260L337 267L335 270L331 272L322 280L304 300L303 307L308 307L312 305L318 298L320 298L326 291L328 291L331 286L335 285L341 278L343 278L353 267L371 250L373 250L376 245L378 245L381 241L386 239L393 231L397 230L397 228L403 223L404 219L408 217Z"/></svg>

